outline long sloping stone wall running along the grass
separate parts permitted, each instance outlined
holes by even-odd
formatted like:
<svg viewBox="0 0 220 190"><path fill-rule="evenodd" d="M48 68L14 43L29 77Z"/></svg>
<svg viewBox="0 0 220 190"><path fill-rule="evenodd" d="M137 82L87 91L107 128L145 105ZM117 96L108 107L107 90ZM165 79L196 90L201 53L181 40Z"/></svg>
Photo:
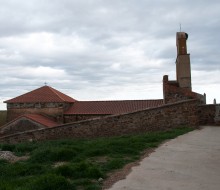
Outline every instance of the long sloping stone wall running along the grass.
<svg viewBox="0 0 220 190"><path fill-rule="evenodd" d="M198 100L187 100L129 114L106 116L0 138L0 143L62 138L95 138L198 126Z"/></svg>

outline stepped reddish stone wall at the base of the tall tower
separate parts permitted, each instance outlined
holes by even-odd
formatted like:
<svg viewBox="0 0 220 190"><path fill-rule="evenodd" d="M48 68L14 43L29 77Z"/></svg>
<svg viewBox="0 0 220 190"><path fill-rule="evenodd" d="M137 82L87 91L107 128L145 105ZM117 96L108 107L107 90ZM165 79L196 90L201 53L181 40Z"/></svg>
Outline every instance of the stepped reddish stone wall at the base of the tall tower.
<svg viewBox="0 0 220 190"><path fill-rule="evenodd" d="M168 76L163 77L164 103L174 103L182 100L198 99L202 104L206 103L205 95L198 94L188 88L181 88L177 81L169 81Z"/></svg>

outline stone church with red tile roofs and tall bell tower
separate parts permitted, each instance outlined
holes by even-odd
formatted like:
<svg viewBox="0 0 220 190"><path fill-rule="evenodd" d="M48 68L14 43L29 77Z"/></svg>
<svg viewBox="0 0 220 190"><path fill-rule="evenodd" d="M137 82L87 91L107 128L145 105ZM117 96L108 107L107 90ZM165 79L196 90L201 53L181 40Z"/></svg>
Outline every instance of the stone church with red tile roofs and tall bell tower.
<svg viewBox="0 0 220 190"><path fill-rule="evenodd" d="M80 101L45 85L4 101L7 104L8 123L0 129L0 136L126 114L188 99L198 99L205 104L205 95L192 91L187 39L187 33L176 33L176 80L170 81L168 75L164 75L163 99Z"/></svg>

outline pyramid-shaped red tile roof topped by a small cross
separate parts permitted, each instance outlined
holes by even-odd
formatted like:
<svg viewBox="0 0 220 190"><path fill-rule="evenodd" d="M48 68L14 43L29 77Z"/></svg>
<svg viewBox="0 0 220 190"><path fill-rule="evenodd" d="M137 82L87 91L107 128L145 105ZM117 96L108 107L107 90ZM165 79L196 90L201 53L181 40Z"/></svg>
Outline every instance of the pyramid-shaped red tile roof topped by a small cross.
<svg viewBox="0 0 220 190"><path fill-rule="evenodd" d="M43 86L31 92L4 101L4 103L75 102L76 100L50 87Z"/></svg>

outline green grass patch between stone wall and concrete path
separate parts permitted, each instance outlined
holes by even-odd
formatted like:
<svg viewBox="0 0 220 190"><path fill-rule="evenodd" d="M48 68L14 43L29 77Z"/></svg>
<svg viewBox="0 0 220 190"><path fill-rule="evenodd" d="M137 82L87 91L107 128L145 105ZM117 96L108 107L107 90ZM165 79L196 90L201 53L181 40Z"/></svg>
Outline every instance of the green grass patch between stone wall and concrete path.
<svg viewBox="0 0 220 190"><path fill-rule="evenodd" d="M0 189L100 190L99 178L105 179L110 172L139 159L144 150L191 130L184 127L92 140L0 144L1 150L30 156L16 163L0 160Z"/></svg>

